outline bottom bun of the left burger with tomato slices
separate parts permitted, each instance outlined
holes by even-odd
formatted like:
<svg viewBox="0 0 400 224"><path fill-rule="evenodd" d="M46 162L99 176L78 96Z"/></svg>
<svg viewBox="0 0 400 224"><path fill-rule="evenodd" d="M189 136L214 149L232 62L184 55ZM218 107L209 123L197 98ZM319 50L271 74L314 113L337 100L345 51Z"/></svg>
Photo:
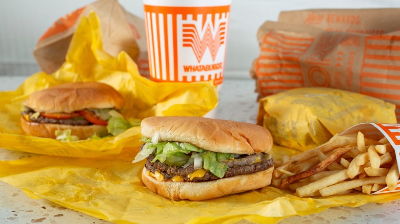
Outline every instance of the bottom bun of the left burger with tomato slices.
<svg viewBox="0 0 400 224"><path fill-rule="evenodd" d="M55 130L71 129L71 135L79 139L92 137L94 133L98 136L108 134L106 126L102 125L66 125L66 124L44 124L26 121L21 118L22 129L32 136L55 139Z"/></svg>

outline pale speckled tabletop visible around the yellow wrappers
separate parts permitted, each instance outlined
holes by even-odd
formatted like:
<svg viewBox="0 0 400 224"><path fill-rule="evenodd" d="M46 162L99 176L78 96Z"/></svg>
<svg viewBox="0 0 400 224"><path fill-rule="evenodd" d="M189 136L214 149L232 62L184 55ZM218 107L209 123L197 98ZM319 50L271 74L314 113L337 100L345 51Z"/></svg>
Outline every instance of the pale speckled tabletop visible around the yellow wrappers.
<svg viewBox="0 0 400 224"><path fill-rule="evenodd" d="M13 91L26 77L0 76L0 91ZM255 123L258 113L255 82L227 79L219 93L216 117ZM16 160L28 153L0 149L0 160ZM18 188L0 181L0 223L111 223L82 212L65 208L46 199L31 199ZM287 223L400 223L400 199L390 203L334 207L323 212L293 216L279 221Z"/></svg>

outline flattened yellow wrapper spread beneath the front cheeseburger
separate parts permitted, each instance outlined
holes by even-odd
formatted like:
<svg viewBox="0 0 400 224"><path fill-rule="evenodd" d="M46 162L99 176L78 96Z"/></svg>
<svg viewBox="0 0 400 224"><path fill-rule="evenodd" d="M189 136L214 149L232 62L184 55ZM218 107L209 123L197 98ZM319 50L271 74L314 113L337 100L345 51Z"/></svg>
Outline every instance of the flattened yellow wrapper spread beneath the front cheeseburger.
<svg viewBox="0 0 400 224"><path fill-rule="evenodd" d="M151 192L141 181L145 161L132 164L138 147L101 158L37 155L0 162L0 180L28 196L115 223L274 223L330 207L358 207L400 198L400 192L300 198L274 187L204 201L172 201ZM298 151L274 146L272 156ZM279 154L275 154L278 152Z"/></svg>

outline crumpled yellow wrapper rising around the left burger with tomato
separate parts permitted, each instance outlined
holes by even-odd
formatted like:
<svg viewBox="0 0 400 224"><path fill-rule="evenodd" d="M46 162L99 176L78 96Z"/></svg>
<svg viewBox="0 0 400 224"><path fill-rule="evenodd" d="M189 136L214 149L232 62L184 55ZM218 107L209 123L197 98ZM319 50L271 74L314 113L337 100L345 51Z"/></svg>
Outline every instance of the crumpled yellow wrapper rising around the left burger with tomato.
<svg viewBox="0 0 400 224"><path fill-rule="evenodd" d="M142 77L126 52L111 57L103 51L97 15L82 17L71 40L66 62L51 75L39 72L28 77L16 91L0 93L0 147L78 157L119 153L124 146L140 143L139 128L102 140L64 142L27 136L21 129L20 109L29 94L68 82L103 82L125 98L121 114L127 119L151 116L204 116L218 103L216 87L210 82L154 82ZM138 123L137 122L137 123Z"/></svg>

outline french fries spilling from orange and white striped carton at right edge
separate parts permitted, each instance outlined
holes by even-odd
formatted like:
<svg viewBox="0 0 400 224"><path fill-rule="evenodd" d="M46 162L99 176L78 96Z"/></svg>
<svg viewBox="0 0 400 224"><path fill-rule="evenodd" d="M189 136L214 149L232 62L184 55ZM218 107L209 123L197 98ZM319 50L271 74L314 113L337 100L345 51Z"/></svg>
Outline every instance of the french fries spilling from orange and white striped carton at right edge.
<svg viewBox="0 0 400 224"><path fill-rule="evenodd" d="M272 183L299 197L396 192L399 163L400 124L362 123L285 159Z"/></svg>

